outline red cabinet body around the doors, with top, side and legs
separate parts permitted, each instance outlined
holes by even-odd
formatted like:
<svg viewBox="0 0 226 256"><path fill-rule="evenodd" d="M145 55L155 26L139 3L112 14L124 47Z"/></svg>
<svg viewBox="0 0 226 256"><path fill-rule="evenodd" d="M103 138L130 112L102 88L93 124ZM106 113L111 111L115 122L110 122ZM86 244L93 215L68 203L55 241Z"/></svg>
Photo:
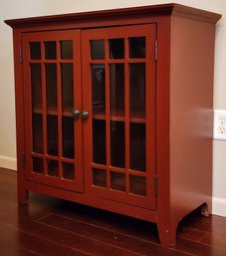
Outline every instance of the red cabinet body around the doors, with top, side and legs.
<svg viewBox="0 0 226 256"><path fill-rule="evenodd" d="M27 203L28 191L32 190L151 221L157 224L160 241L167 246L175 244L177 224L183 216L203 204L203 209L208 205L211 212L214 34L220 17L194 8L165 4L7 20L14 36L19 203ZM146 24L156 26L152 45L155 87L148 92L150 97L154 94L155 107L154 124L150 125L155 133L152 138L154 152L150 156L150 162L155 166L150 188L155 197L154 204L150 208L139 203L132 205L100 196L100 193L93 194L89 189L78 193L67 189L67 184L57 187L42 180L30 180L26 175L31 165L26 151L27 132L30 132L26 123L31 121L26 106L29 92L25 88L27 73L23 67L27 57L22 53L23 35L44 31L51 34L65 31L67 34L67 31L76 30L85 31L86 38L86 31L90 29L105 32L105 28ZM83 55L86 55L86 47L84 51ZM81 60L83 72L87 69L87 61ZM88 77L84 76L83 80L86 84ZM83 90L88 91L88 88L85 86ZM81 93L82 109L90 108L87 104L89 94L89 91L86 96ZM152 107L148 105L148 108ZM86 122L83 126L89 132L89 122ZM87 143L81 146L85 151L89 150ZM82 164L88 168L86 164L91 162L89 153L84 153L83 159L80 156L81 168ZM81 191L83 178L85 187L89 183L89 177L81 176Z"/></svg>

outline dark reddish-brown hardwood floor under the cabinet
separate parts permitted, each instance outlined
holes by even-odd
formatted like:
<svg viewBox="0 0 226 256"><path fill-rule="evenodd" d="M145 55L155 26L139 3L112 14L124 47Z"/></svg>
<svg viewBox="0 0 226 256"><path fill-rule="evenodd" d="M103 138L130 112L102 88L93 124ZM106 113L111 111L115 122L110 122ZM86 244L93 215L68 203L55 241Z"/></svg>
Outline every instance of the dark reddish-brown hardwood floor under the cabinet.
<svg viewBox="0 0 226 256"><path fill-rule="evenodd" d="M159 245L156 226L77 203L30 193L18 206L16 172L0 168L1 256L225 256L226 218L193 212L177 245Z"/></svg>

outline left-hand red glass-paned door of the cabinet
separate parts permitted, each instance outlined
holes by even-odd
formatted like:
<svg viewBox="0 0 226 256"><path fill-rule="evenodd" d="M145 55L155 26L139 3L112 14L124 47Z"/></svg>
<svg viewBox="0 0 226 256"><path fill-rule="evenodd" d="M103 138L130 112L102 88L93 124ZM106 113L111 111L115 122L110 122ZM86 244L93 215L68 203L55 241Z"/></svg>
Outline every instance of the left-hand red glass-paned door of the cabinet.
<svg viewBox="0 0 226 256"><path fill-rule="evenodd" d="M79 30L22 36L27 178L83 190Z"/></svg>

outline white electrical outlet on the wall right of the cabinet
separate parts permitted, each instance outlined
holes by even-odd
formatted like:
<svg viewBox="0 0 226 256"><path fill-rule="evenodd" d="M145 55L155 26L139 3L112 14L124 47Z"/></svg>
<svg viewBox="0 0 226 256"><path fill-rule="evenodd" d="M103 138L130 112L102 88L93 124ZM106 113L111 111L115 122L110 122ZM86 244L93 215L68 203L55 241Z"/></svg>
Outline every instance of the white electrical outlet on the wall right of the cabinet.
<svg viewBox="0 0 226 256"><path fill-rule="evenodd" d="M226 140L226 111L214 110L213 138Z"/></svg>

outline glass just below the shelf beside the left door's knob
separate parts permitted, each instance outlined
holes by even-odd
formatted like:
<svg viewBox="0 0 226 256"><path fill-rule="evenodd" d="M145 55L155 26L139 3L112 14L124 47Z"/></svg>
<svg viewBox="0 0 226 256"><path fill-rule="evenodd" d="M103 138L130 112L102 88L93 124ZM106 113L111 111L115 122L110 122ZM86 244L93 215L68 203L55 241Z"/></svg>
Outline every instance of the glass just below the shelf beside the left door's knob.
<svg viewBox="0 0 226 256"><path fill-rule="evenodd" d="M63 156L68 158L74 158L74 119L69 117L63 117L62 126Z"/></svg>

